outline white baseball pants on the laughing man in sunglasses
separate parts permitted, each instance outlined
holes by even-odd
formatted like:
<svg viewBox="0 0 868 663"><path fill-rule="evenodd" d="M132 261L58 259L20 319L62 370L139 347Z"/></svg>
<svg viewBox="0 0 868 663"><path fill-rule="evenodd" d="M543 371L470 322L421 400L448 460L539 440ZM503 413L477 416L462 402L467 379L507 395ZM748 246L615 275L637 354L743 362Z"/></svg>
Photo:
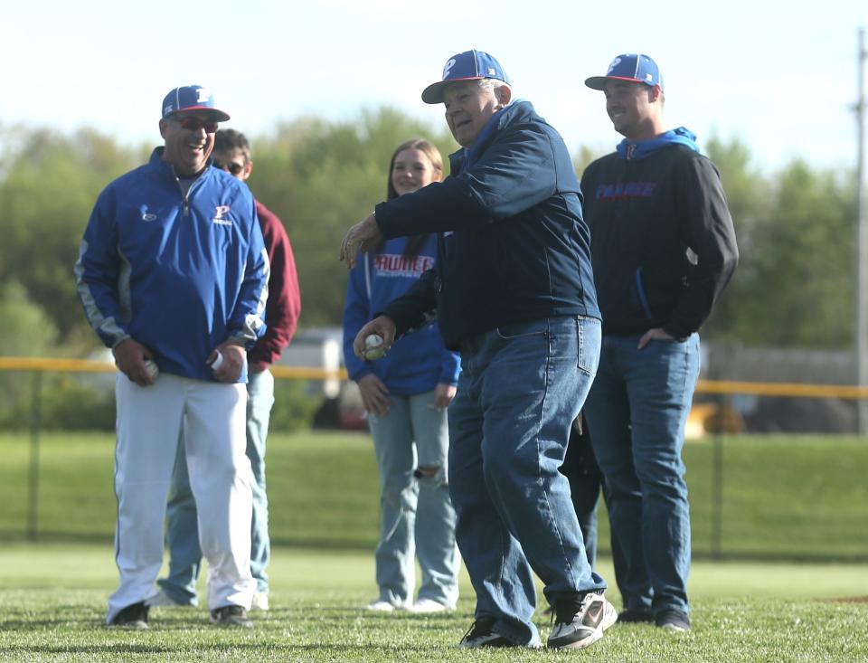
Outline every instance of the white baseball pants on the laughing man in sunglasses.
<svg viewBox="0 0 868 663"><path fill-rule="evenodd" d="M120 582L106 621L156 594L163 564L165 501L184 426L190 487L199 514L199 542L208 562L209 610L250 609L250 460L245 454L247 390L159 374L140 387L118 374L115 560Z"/></svg>

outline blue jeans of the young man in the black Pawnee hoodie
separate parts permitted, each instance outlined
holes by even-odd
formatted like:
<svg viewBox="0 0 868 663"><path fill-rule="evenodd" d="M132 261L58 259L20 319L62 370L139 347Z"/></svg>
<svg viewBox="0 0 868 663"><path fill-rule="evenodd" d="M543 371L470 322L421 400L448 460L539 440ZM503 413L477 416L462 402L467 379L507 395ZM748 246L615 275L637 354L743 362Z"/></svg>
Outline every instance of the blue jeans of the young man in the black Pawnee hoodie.
<svg viewBox="0 0 868 663"><path fill-rule="evenodd" d="M684 424L699 376L699 336L605 336L585 403L606 482L615 577L624 607L688 611L690 509Z"/></svg>

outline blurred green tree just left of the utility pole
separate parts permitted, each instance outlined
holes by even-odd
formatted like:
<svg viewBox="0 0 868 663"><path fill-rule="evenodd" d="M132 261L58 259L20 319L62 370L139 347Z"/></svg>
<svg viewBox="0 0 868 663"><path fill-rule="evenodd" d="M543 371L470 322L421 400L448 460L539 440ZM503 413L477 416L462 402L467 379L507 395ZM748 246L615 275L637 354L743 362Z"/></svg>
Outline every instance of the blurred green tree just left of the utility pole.
<svg viewBox="0 0 868 663"><path fill-rule="evenodd" d="M740 336L751 345L844 349L854 337L854 189L794 161L752 234Z"/></svg>

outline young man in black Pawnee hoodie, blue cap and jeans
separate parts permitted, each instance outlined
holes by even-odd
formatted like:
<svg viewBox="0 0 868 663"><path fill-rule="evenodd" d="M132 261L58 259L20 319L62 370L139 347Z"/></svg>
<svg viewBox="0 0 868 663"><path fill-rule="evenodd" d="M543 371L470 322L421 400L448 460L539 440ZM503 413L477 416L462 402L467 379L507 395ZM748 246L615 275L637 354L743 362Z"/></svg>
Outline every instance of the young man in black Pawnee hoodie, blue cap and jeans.
<svg viewBox="0 0 868 663"><path fill-rule="evenodd" d="M603 314L584 413L605 477L619 621L690 628L684 424L699 375L697 331L738 261L721 178L693 133L665 129L663 77L619 55L585 81L624 136L581 178Z"/></svg>

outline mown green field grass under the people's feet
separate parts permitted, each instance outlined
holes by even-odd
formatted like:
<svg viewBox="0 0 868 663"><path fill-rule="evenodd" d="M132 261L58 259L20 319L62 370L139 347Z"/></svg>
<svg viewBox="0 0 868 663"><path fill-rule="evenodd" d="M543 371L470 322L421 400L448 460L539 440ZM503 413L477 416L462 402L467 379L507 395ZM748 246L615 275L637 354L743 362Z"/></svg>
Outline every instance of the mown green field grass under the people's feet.
<svg viewBox="0 0 868 663"><path fill-rule="evenodd" d="M270 567L272 610L251 631L219 630L204 609L155 609L143 632L102 626L117 582L109 545L6 545L0 549L0 661L731 661L868 660L866 564L694 565L693 630L615 626L586 652L459 651L474 607L467 576L458 611L381 615L373 554L278 548ZM611 578L608 561L599 569ZM617 592L610 592L617 601ZM543 638L548 620L538 615ZM553 658L554 657L554 658Z"/></svg>

